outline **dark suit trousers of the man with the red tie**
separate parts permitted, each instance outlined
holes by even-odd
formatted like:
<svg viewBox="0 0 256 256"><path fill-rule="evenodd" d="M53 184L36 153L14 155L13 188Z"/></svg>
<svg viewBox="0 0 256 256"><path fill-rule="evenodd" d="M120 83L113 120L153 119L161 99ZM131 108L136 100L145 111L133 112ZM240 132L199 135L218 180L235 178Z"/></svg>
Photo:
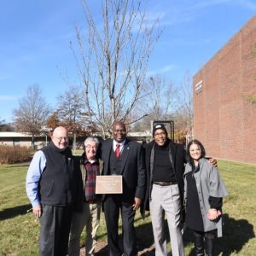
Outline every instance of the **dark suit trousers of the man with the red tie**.
<svg viewBox="0 0 256 256"><path fill-rule="evenodd" d="M135 211L131 205L120 201L119 195L108 195L104 201L104 212L108 231L108 247L110 256L119 256L119 212L122 216L123 245L125 256L137 254L136 233L134 228Z"/></svg>

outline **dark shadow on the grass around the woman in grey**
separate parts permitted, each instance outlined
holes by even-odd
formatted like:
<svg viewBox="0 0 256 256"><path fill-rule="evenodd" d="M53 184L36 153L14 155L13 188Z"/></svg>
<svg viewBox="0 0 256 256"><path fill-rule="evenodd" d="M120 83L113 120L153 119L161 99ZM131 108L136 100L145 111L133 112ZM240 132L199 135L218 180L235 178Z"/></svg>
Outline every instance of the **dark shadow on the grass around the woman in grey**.
<svg viewBox="0 0 256 256"><path fill-rule="evenodd" d="M223 237L219 237L215 242L214 255L229 256L231 253L240 253L247 241L255 237L253 224L250 224L247 219L236 220L229 218L229 214L224 214L223 223ZM194 241L190 230L185 236L188 241ZM192 255L194 255L194 249L189 253L189 256Z"/></svg>

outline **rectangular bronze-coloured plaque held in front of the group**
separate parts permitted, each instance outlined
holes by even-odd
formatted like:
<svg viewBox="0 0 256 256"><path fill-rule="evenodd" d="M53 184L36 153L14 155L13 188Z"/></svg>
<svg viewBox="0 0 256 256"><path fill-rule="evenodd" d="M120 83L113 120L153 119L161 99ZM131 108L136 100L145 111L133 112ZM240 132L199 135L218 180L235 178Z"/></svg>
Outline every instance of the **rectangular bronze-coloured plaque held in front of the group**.
<svg viewBox="0 0 256 256"><path fill-rule="evenodd" d="M122 175L96 176L96 194L122 194Z"/></svg>

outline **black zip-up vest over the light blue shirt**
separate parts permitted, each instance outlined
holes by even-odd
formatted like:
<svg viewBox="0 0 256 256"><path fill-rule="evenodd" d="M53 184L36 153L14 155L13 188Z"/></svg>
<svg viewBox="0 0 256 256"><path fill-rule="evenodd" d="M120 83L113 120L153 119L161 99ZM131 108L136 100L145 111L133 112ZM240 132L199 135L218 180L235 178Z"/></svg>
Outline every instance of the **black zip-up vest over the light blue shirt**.
<svg viewBox="0 0 256 256"><path fill-rule="evenodd" d="M73 156L70 148L61 150L50 143L42 151L46 166L39 183L41 202L50 206L71 205Z"/></svg>

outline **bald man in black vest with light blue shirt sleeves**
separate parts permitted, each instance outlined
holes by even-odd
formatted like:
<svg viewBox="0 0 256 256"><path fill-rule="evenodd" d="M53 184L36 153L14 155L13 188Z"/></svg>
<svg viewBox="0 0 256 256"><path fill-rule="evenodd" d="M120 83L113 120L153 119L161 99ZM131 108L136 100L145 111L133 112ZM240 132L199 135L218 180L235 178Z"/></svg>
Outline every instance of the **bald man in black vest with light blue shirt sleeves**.
<svg viewBox="0 0 256 256"><path fill-rule="evenodd" d="M34 154L26 176L26 194L39 218L39 255L67 255L76 188L73 155L67 130L56 127L48 146Z"/></svg>

